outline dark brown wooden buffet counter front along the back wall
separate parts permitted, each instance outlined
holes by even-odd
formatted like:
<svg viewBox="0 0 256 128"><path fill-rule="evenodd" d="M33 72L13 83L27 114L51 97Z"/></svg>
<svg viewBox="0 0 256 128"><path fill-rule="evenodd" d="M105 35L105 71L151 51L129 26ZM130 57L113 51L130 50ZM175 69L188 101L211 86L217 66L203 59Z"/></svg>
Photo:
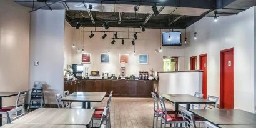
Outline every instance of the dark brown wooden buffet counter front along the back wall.
<svg viewBox="0 0 256 128"><path fill-rule="evenodd" d="M150 97L157 90L156 80L121 79L77 79L64 81L64 91L72 92L109 92L120 97Z"/></svg>

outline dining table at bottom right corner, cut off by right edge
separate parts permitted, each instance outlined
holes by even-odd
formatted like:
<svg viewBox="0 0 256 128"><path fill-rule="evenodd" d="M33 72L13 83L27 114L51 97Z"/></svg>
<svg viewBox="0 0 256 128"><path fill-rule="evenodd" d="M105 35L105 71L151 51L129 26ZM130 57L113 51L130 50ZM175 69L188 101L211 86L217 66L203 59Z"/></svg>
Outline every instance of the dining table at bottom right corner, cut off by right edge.
<svg viewBox="0 0 256 128"><path fill-rule="evenodd" d="M239 109L193 109L189 111L215 126L256 124L256 114Z"/></svg>

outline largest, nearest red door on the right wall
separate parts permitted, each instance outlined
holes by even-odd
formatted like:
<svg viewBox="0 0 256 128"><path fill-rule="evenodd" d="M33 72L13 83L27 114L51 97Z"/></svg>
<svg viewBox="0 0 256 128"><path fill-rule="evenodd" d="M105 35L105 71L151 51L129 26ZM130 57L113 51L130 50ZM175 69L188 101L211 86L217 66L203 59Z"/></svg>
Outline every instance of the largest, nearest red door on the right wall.
<svg viewBox="0 0 256 128"><path fill-rule="evenodd" d="M234 48L220 51L220 108L234 109Z"/></svg>

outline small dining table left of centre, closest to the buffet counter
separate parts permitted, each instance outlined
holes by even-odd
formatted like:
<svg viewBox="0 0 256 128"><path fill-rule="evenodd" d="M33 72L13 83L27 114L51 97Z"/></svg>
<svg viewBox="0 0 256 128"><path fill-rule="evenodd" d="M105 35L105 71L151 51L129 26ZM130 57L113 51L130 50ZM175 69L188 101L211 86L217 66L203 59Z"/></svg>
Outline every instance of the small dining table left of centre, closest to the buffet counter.
<svg viewBox="0 0 256 128"><path fill-rule="evenodd" d="M61 101L82 102L83 109L90 109L91 102L102 102L105 96L106 92L74 92L69 96L63 97Z"/></svg>

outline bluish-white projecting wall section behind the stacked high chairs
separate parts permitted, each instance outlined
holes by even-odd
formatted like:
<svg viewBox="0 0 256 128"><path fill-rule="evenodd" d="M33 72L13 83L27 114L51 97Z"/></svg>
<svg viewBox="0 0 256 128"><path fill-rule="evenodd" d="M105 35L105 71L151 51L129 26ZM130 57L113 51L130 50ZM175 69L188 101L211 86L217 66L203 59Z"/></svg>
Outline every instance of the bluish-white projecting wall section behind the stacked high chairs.
<svg viewBox="0 0 256 128"><path fill-rule="evenodd" d="M54 94L63 91L64 21L64 10L31 13L29 84L46 82L46 104L56 104ZM39 66L34 66L34 61L39 61Z"/></svg>

